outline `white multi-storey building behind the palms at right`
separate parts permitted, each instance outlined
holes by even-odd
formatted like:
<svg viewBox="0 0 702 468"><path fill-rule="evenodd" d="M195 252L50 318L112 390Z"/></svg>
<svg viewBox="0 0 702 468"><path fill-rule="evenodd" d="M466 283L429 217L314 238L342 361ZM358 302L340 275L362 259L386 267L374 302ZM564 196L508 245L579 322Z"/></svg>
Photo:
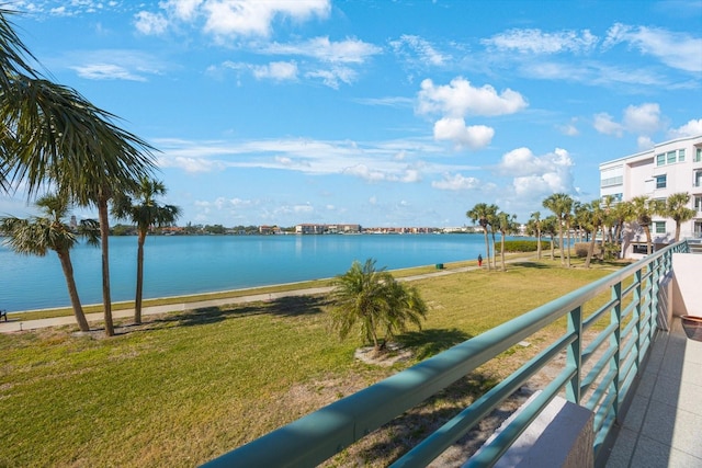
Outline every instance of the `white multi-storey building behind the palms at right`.
<svg viewBox="0 0 702 468"><path fill-rule="evenodd" d="M629 201L639 195L665 199L687 192L689 208L695 217L680 227L680 238L702 237L702 135L678 138L656 145L653 149L600 164L600 196ZM650 235L654 243L675 239L672 219L654 216ZM634 232L634 243L645 242L643 232Z"/></svg>

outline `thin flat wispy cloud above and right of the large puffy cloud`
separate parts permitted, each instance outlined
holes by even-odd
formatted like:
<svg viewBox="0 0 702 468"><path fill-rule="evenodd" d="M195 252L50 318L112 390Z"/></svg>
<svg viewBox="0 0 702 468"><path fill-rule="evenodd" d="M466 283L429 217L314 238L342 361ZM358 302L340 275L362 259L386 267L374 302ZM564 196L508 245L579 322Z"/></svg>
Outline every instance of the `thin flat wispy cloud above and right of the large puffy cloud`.
<svg viewBox="0 0 702 468"><path fill-rule="evenodd" d="M517 50L521 54L558 54L589 52L598 41L589 30L555 33L545 33L541 30L510 30L484 39L482 43L500 50Z"/></svg>

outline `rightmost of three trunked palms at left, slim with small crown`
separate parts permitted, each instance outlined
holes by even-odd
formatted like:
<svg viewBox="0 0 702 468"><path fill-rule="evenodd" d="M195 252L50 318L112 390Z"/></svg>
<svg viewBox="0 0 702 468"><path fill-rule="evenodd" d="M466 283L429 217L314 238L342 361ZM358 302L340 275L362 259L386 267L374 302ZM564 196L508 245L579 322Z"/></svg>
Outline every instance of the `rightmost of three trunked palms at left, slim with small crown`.
<svg viewBox="0 0 702 468"><path fill-rule="evenodd" d="M170 226L180 215L180 208L174 205L159 205L157 196L166 194L162 182L141 178L139 190L133 195L120 195L112 205L113 216L129 219L136 224L137 255L136 255L136 295L134 299L134 322L141 323L141 298L144 292L144 243L151 226Z"/></svg>

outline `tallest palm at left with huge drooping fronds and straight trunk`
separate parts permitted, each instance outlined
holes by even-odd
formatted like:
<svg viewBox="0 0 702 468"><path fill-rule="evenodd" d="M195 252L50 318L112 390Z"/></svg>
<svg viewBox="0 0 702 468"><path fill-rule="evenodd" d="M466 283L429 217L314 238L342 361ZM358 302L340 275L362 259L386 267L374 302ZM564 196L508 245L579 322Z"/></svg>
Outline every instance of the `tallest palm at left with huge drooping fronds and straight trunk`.
<svg viewBox="0 0 702 468"><path fill-rule="evenodd" d="M105 333L113 335L107 204L149 175L154 148L77 91L41 79L23 60L31 54L7 21L9 13L0 10L0 179L5 189L24 182L30 197L54 184L71 202L98 208Z"/></svg>

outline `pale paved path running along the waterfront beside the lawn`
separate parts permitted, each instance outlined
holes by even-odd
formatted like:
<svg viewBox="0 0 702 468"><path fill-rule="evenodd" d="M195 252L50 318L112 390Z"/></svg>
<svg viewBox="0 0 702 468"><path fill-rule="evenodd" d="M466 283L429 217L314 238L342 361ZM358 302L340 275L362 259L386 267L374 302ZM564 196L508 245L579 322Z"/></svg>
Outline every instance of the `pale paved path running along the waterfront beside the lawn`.
<svg viewBox="0 0 702 468"><path fill-rule="evenodd" d="M511 259L511 262L523 261L524 259ZM485 266L484 266L485 267ZM450 275L453 273L466 272L468 270L476 270L477 266L462 266L457 269L444 269L438 270L431 273L424 273L421 275L415 276L406 276L403 278L398 278L399 281L416 281L431 276L441 276L441 275ZM309 296L314 294L325 294L329 293L331 287L315 287L315 288L304 288L304 289L295 289L295 290L286 290L280 293L267 293L267 294L252 294L249 296L240 296L240 297L229 297L224 299L212 299L212 300L200 300L192 303L182 303L182 304L170 304L166 306L151 306L144 307L141 309L143 316L151 316L156 313L168 313L168 312L179 312L183 310L192 310L200 309L203 307L216 307L224 306L227 304L247 304L247 303L257 303L261 300L274 300L280 299L282 297L294 297L294 296ZM123 310L113 310L112 317L114 319L127 318L134 316L134 309L123 309ZM36 319L36 320L22 320L21 313L9 313L8 321L0 321L0 333L12 333L18 331L25 330L36 330L47 327L60 327L60 326L70 326L76 324L76 318L70 316L64 317L53 317L49 319ZM103 313L87 313L86 318L89 323L102 322Z"/></svg>

